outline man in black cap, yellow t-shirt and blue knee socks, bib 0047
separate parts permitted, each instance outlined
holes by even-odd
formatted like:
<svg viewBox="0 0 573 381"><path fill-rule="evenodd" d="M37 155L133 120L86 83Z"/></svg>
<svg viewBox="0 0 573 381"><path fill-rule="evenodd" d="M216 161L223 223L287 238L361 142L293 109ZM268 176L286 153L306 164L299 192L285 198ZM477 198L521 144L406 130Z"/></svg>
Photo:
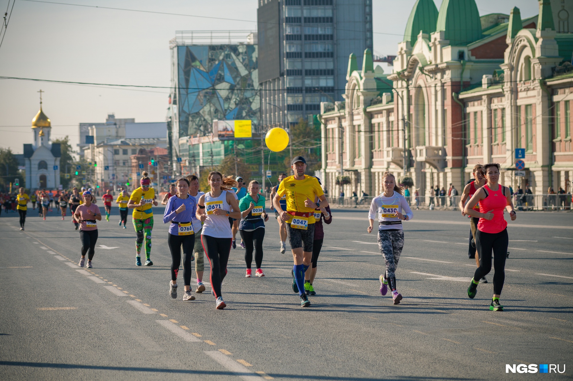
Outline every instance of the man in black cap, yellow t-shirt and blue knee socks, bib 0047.
<svg viewBox="0 0 573 381"><path fill-rule="evenodd" d="M292 271L292 291L298 292L301 307L309 307L311 302L304 292L304 273L309 268L312 259L312 245L314 243L316 208L328 207L328 201L316 177L304 174L307 161L302 156L295 156L291 161L291 168L295 173L286 177L278 185L273 204L280 216L286 222L289 244L294 259ZM282 196L286 196L286 211L280 204ZM315 203L315 197L319 203Z"/></svg>

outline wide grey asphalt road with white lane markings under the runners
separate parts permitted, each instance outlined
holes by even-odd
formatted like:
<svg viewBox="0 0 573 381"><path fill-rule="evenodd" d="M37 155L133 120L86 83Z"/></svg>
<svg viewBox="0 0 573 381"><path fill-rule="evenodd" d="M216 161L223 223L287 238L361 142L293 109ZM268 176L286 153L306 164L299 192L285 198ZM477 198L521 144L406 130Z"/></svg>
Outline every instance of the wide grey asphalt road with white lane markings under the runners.
<svg viewBox="0 0 573 381"><path fill-rule="evenodd" d="M2 213L2 380L523 379L505 373L520 363L566 364L539 376L572 378L572 213L519 212L509 222L505 311L492 312L492 283L466 295L475 262L459 212L414 211L404 224L399 305L378 291L384 265L366 211L334 210L325 225L311 308L292 293L292 256L278 251L270 220L266 276L245 278L244 251L232 250L223 311L210 292L168 296L162 212L154 208L154 266L135 266L134 228L119 228L113 208L111 222L98 223L91 271L77 266L69 216L30 211L21 232L17 214Z"/></svg>

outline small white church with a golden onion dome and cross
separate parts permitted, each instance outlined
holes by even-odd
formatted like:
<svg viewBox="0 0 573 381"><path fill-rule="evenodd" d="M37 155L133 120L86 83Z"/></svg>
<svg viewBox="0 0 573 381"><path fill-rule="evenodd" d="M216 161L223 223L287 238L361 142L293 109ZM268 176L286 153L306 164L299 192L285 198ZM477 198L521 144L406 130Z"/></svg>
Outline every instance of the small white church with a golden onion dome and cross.
<svg viewBox="0 0 573 381"><path fill-rule="evenodd" d="M61 145L50 142L52 122L42 110L42 90L40 90L40 110L32 119L33 144L24 144L26 167L26 188L60 188Z"/></svg>

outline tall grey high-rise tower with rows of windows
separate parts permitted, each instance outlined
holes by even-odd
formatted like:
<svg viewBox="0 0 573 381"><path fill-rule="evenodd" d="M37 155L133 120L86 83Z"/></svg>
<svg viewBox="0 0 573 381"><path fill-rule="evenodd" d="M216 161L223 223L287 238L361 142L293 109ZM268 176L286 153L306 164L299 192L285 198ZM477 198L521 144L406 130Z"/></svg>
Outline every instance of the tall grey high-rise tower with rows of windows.
<svg viewBox="0 0 573 381"><path fill-rule="evenodd" d="M296 124L342 101L348 56L372 51L371 0L258 1L261 125Z"/></svg>

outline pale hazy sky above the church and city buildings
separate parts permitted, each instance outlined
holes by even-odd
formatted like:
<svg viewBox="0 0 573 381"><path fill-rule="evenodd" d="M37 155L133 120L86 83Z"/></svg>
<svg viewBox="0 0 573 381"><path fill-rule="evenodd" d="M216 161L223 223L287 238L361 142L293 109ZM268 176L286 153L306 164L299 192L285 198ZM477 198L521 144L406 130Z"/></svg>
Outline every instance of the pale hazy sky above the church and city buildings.
<svg viewBox="0 0 573 381"><path fill-rule="evenodd" d="M0 76L169 86L169 40L176 30L256 30L257 27L257 0L50 1L185 15L15 0L0 46ZM0 0L1 13L8 3ZM395 54L414 3L415 0L372 2L375 54ZM539 9L536 0L476 0L476 3L480 15L509 14L517 6L525 18L537 14ZM435 0L438 9L440 4L441 0ZM166 119L167 89L109 89L0 79L0 147L22 153L22 144L32 142L30 124L38 112L40 89L44 91L44 112L52 120L52 138L69 136L74 148L79 142L79 123L104 122L108 113L115 113L117 118L135 118L136 122Z"/></svg>

